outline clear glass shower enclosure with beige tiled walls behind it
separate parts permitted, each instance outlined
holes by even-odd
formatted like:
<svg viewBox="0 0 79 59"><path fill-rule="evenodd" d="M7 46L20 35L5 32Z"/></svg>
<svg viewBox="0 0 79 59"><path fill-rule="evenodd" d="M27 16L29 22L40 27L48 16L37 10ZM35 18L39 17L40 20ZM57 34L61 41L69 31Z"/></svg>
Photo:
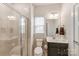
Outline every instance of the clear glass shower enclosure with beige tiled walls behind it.
<svg viewBox="0 0 79 59"><path fill-rule="evenodd" d="M6 4L0 4L0 56L27 55L26 21L22 28L20 20L20 14ZM21 32L22 29L25 31Z"/></svg>

